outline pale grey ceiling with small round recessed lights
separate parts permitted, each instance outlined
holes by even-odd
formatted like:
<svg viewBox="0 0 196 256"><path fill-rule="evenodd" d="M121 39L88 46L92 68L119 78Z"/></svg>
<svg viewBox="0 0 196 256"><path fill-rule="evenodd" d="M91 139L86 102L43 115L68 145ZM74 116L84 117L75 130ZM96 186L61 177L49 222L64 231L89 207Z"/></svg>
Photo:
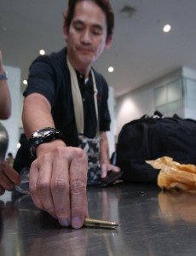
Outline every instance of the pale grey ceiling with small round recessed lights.
<svg viewBox="0 0 196 256"><path fill-rule="evenodd" d="M0 49L5 65L21 68L21 81L38 55L61 49L62 13L67 0L0 0ZM116 97L158 79L178 67L196 70L195 0L111 0L115 13L112 47L94 67ZM122 15L125 5L135 9ZM171 31L163 32L163 26ZM113 66L114 72L107 68ZM21 82L21 91L24 85Z"/></svg>

